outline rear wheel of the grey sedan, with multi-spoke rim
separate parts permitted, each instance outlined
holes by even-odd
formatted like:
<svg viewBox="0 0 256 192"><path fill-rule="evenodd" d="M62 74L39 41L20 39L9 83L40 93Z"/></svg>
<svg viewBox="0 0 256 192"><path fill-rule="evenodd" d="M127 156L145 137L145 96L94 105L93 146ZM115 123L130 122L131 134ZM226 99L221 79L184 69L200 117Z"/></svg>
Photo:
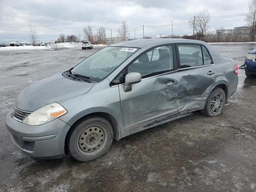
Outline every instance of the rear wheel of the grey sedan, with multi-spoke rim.
<svg viewBox="0 0 256 192"><path fill-rule="evenodd" d="M223 89L215 88L209 95L204 109L200 112L207 117L217 116L222 113L226 103L226 94Z"/></svg>

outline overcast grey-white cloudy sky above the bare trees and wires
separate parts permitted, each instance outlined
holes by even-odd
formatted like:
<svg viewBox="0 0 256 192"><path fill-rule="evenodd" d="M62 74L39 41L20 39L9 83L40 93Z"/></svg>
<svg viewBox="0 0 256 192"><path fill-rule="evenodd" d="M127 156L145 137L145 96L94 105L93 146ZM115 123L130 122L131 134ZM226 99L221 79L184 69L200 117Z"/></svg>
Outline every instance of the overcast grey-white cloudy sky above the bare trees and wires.
<svg viewBox="0 0 256 192"><path fill-rule="evenodd" d="M248 12L247 0L0 0L0 42L29 41L28 25L38 32L38 40L56 40L59 34L84 36L84 26L90 25L94 32L100 26L106 28L106 36L112 36L122 20L128 23L130 37L142 37L144 24L159 26L179 22L195 15L196 11L208 10L212 18L244 14ZM209 30L217 27L245 26L245 16L211 20ZM172 34L172 27L145 29L145 36ZM192 34L188 24L173 26L173 34Z"/></svg>

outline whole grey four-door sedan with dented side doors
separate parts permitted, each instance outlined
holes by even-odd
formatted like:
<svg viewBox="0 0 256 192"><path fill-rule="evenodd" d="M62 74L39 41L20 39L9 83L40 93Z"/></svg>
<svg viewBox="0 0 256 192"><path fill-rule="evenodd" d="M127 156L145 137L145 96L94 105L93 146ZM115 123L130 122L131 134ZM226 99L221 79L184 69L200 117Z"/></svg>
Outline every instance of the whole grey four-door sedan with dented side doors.
<svg viewBox="0 0 256 192"><path fill-rule="evenodd" d="M22 90L6 118L14 144L34 157L103 156L113 139L200 110L222 113L238 67L209 44L147 39L107 46Z"/></svg>

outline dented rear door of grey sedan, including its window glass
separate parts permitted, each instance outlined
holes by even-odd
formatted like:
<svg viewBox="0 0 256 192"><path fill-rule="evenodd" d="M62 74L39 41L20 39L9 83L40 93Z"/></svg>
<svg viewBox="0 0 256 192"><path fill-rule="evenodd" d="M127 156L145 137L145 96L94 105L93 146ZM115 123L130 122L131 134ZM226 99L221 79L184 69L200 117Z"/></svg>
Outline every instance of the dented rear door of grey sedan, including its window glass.
<svg viewBox="0 0 256 192"><path fill-rule="evenodd" d="M200 44L176 44L179 68L178 112L203 108L216 73L208 50Z"/></svg>

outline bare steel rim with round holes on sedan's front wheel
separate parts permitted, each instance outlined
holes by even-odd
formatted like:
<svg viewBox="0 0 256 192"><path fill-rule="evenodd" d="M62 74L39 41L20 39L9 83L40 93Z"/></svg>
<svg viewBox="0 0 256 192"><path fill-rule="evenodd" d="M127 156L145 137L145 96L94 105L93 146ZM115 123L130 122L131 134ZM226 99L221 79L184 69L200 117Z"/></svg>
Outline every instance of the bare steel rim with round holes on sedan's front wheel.
<svg viewBox="0 0 256 192"><path fill-rule="evenodd" d="M95 155L106 145L108 132L98 124L84 128L76 138L78 151L86 156Z"/></svg>

